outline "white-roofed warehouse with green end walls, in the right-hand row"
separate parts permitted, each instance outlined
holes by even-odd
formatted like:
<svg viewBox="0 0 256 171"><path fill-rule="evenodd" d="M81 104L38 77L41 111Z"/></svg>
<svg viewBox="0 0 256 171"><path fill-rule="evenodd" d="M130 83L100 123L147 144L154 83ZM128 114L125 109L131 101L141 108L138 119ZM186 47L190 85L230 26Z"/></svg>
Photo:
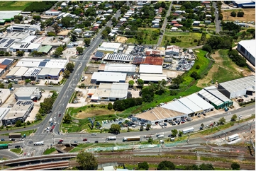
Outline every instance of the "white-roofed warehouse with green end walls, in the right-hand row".
<svg viewBox="0 0 256 171"><path fill-rule="evenodd" d="M218 91L215 86L206 87L200 90L198 95L215 107L216 110L230 107L233 101L229 100L225 95Z"/></svg>

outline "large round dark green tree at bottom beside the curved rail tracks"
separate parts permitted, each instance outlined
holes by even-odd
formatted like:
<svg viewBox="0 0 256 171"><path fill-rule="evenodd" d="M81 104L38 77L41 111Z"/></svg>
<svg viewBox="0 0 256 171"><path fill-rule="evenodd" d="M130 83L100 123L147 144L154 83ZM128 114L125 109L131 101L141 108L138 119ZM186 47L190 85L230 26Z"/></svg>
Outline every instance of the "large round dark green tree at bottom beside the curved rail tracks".
<svg viewBox="0 0 256 171"><path fill-rule="evenodd" d="M94 155L86 151L77 154L77 163L79 163L81 170L96 170L98 166L98 161Z"/></svg>

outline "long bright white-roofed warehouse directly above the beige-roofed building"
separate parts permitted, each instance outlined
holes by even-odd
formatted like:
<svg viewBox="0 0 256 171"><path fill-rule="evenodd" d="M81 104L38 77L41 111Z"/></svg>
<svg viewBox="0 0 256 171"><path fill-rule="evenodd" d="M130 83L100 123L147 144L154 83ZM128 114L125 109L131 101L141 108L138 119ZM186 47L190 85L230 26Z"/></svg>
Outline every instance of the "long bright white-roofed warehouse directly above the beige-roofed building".
<svg viewBox="0 0 256 171"><path fill-rule="evenodd" d="M91 76L91 83L125 83L126 73L118 72L94 72Z"/></svg>

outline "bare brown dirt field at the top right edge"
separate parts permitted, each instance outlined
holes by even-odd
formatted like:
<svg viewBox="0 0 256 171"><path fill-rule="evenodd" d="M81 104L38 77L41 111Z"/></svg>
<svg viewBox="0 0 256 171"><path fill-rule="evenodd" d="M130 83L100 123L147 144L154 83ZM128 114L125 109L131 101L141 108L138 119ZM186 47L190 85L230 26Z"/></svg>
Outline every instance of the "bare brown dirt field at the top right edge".
<svg viewBox="0 0 256 171"><path fill-rule="evenodd" d="M230 13L232 11L235 11L238 13L238 11L243 11L245 15L243 17L232 17L230 16ZM255 8L244 8L244 9L239 9L239 10L225 10L221 11L223 14L223 20L239 20L239 21L255 21Z"/></svg>

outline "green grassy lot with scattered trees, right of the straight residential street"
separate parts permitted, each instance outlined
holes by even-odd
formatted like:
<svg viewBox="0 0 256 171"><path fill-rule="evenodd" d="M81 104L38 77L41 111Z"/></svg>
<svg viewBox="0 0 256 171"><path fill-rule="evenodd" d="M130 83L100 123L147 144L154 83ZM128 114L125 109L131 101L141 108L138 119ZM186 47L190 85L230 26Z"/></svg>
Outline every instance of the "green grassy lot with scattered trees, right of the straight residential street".
<svg viewBox="0 0 256 171"><path fill-rule="evenodd" d="M172 45L177 45L179 47L194 47L197 45L197 42L194 42L194 40L200 40L201 33L167 32L164 35L161 45L165 46L167 42L171 42L172 37L177 37L178 40L182 41L182 42L172 43ZM209 38L209 37L210 35L206 34L206 38Z"/></svg>

